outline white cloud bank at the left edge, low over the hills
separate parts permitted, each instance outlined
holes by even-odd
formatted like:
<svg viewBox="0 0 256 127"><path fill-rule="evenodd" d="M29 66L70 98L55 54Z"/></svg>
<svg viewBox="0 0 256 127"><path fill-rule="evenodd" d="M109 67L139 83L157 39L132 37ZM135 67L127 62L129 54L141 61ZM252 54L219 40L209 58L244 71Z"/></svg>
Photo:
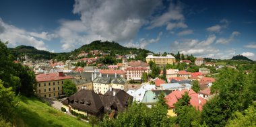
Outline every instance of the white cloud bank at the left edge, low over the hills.
<svg viewBox="0 0 256 127"><path fill-rule="evenodd" d="M40 35L40 33L35 33L34 36L31 35L31 32L17 28L15 26L6 24L0 18L0 39L3 42L9 42L9 46L18 46L21 44L34 46L39 50L47 50L46 45L42 40L34 38L34 36ZM42 34L42 33L41 33ZM44 33L45 37L48 33Z"/></svg>

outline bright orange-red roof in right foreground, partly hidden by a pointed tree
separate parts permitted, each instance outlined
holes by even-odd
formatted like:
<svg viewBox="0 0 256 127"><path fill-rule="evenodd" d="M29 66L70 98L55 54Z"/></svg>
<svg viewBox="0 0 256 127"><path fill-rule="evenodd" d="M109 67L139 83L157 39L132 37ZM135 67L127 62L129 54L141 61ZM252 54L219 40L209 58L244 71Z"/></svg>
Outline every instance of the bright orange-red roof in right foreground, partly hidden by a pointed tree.
<svg viewBox="0 0 256 127"><path fill-rule="evenodd" d="M197 110L202 110L203 105L206 103L206 99L199 97L198 93L195 93L193 89L183 89L182 91L173 91L172 93L164 97L169 108L174 108L174 103L177 103L178 99L181 99L182 95L185 94L185 91L189 93L190 104L193 105Z"/></svg>

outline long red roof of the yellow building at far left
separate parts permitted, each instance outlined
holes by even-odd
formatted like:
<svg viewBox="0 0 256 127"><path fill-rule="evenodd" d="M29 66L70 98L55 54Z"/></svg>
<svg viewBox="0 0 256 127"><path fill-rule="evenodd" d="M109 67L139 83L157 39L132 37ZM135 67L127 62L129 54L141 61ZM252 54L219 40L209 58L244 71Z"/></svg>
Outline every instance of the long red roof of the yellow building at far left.
<svg viewBox="0 0 256 127"><path fill-rule="evenodd" d="M69 77L66 75L63 75L63 73L49 73L49 74L39 74L36 75L36 81L42 82L42 81L57 81L57 80L63 80L63 79L72 79L73 77Z"/></svg>

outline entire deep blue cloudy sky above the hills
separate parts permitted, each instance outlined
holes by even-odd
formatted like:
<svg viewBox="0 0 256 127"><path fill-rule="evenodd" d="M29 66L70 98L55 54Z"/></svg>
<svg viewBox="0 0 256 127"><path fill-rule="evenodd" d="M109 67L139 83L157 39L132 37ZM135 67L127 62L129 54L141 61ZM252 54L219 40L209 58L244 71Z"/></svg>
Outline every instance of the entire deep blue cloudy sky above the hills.
<svg viewBox="0 0 256 127"><path fill-rule="evenodd" d="M256 60L256 1L1 0L0 40L69 52L94 40Z"/></svg>

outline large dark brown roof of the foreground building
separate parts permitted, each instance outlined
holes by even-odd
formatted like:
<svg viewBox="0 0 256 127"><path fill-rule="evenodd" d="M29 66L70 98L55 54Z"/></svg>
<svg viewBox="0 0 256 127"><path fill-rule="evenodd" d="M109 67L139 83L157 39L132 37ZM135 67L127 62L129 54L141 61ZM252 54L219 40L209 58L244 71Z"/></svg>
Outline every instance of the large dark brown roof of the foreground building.
<svg viewBox="0 0 256 127"><path fill-rule="evenodd" d="M129 99L133 100L133 97L121 89L107 91L104 95L98 95L92 90L82 89L65 99L63 104L71 105L72 108L82 111L98 113L103 107L104 112L108 112L111 107L123 111L127 107ZM90 105L86 105L86 103L90 103Z"/></svg>

